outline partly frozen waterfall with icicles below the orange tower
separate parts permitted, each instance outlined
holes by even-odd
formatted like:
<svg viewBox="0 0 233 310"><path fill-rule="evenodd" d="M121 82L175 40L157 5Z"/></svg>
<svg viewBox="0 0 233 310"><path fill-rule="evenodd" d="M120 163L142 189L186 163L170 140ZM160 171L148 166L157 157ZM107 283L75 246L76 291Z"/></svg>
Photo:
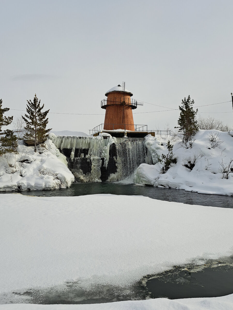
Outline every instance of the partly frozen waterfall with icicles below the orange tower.
<svg viewBox="0 0 233 310"><path fill-rule="evenodd" d="M77 182L119 181L141 163L152 164L144 138L55 136L50 139L66 156Z"/></svg>

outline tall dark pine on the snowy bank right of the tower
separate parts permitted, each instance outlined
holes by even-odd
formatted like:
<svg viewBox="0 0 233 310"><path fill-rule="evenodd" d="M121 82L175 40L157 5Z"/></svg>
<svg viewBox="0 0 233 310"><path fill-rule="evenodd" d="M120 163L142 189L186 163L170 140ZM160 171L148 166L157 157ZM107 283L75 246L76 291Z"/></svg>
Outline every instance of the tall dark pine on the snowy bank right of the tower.
<svg viewBox="0 0 233 310"><path fill-rule="evenodd" d="M188 95L187 99L184 98L182 100L182 105L179 106L180 117L178 119L179 132L183 133L183 142L187 142L191 139L193 135L195 135L196 131L198 131L198 123L195 120L196 111L193 109L194 100L191 101L190 95Z"/></svg>

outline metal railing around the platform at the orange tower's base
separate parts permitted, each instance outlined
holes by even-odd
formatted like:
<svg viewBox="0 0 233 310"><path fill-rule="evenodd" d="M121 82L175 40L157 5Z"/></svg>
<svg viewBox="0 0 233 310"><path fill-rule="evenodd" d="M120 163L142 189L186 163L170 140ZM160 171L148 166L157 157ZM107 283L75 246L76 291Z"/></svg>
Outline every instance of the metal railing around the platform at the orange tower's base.
<svg viewBox="0 0 233 310"><path fill-rule="evenodd" d="M108 127L111 127L112 129L103 129L104 126L107 125ZM129 131L126 130L126 126L134 126L134 131L144 131L144 132L155 132L156 135L170 135L170 130L148 130L147 125L138 125L138 124L100 124L93 129L89 129L89 135L93 135L96 132L100 131ZM119 128L121 127L121 128ZM114 129L115 128L115 129Z"/></svg>

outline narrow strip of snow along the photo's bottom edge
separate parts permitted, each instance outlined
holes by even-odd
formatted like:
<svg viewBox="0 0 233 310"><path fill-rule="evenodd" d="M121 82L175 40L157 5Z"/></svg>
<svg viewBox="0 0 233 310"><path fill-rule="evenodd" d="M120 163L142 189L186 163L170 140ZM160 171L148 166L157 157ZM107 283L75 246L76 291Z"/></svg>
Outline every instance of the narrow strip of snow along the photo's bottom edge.
<svg viewBox="0 0 233 310"><path fill-rule="evenodd" d="M0 310L232 310L233 294L212 298L166 299L157 298L115 303L86 305L0 305Z"/></svg>

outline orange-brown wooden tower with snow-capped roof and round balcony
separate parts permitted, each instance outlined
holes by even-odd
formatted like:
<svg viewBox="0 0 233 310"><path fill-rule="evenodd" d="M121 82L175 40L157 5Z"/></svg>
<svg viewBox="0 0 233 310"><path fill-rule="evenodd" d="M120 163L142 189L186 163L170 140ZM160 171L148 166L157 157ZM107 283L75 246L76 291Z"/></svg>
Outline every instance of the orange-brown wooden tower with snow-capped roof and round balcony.
<svg viewBox="0 0 233 310"><path fill-rule="evenodd" d="M105 93L107 99L101 101L101 108L106 109L104 130L134 131L132 109L137 108L137 101L131 100L132 95L125 89L124 82L122 86L115 86Z"/></svg>

